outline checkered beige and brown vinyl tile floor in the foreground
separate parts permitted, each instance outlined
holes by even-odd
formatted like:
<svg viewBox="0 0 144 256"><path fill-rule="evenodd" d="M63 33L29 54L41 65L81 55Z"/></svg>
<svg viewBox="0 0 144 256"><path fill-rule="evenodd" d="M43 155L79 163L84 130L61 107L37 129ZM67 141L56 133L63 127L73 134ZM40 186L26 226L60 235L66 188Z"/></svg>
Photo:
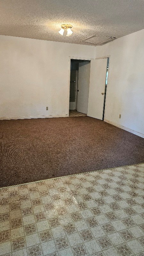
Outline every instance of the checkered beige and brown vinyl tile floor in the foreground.
<svg viewBox="0 0 144 256"><path fill-rule="evenodd" d="M1 188L0 255L144 256L144 164Z"/></svg>

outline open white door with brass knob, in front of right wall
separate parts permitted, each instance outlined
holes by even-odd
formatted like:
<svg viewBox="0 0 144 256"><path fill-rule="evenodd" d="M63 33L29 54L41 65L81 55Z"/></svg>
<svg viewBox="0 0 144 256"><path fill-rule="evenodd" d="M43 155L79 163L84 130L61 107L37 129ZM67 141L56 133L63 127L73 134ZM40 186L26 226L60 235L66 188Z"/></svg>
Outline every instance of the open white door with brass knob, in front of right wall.
<svg viewBox="0 0 144 256"><path fill-rule="evenodd" d="M107 58L91 60L87 116L102 120L107 73Z"/></svg>

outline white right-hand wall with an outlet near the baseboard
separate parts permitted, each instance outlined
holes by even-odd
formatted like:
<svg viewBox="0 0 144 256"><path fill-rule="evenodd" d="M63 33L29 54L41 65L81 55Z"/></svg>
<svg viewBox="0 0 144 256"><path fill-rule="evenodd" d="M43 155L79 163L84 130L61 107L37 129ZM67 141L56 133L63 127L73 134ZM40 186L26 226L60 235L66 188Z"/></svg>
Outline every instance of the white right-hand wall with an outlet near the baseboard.
<svg viewBox="0 0 144 256"><path fill-rule="evenodd" d="M105 119L144 134L144 29L96 47L110 55ZM119 119L121 114L121 119ZM139 134L141 133L141 134Z"/></svg>

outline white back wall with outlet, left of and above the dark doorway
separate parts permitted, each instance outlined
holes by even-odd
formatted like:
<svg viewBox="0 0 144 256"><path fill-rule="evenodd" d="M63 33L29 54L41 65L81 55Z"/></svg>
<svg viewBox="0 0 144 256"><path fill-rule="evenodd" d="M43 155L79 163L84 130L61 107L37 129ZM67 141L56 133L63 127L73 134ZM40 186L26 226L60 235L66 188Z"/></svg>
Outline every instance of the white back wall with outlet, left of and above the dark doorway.
<svg viewBox="0 0 144 256"><path fill-rule="evenodd" d="M95 47L0 36L0 119L67 115L69 56L94 58Z"/></svg>

